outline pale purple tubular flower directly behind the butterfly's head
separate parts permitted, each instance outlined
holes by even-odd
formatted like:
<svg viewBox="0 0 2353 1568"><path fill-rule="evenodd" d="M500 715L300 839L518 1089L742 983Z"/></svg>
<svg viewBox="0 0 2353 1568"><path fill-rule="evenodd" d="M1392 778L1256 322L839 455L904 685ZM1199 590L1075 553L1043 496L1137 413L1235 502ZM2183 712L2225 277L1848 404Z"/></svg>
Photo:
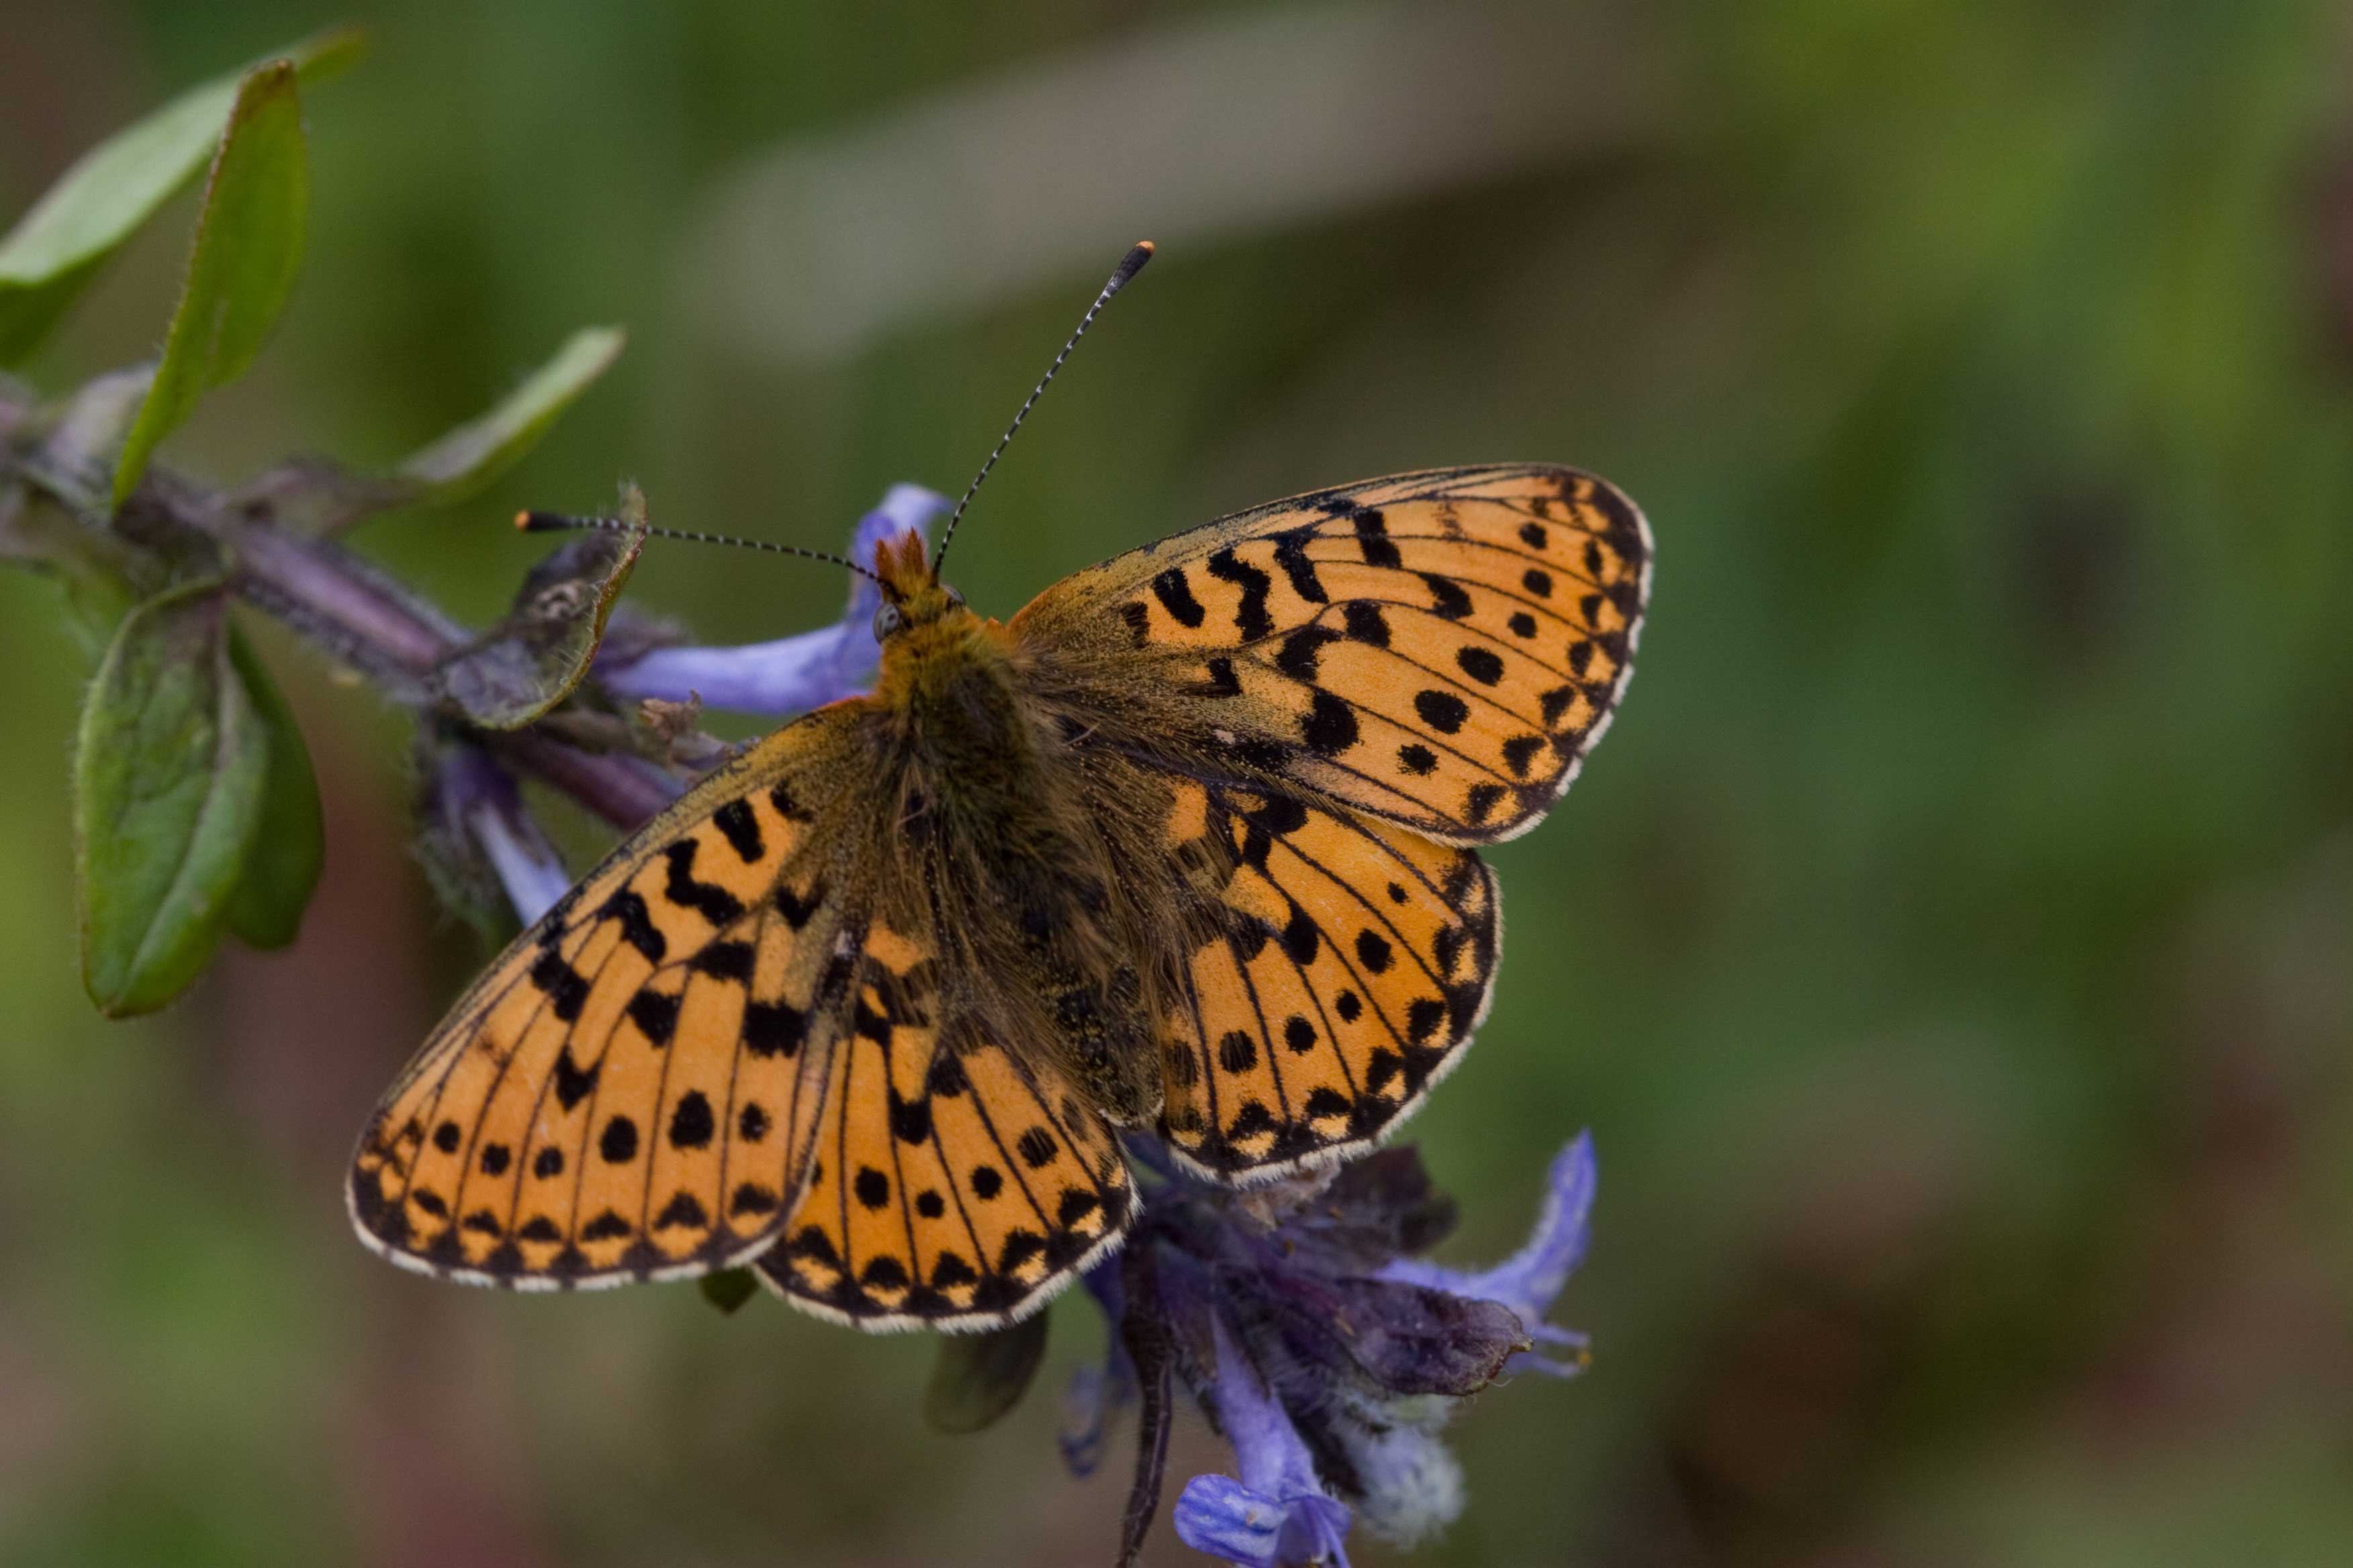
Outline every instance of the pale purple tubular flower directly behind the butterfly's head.
<svg viewBox="0 0 2353 1568"><path fill-rule="evenodd" d="M849 559L873 567L875 545L908 529L927 534L946 510L946 496L920 484L892 484L882 505L866 512L849 536ZM598 679L626 698L685 703L699 696L711 708L765 715L824 708L873 684L880 656L873 616L880 604L882 590L871 578L852 576L849 609L824 630L732 649L649 649L626 663L600 658Z"/></svg>

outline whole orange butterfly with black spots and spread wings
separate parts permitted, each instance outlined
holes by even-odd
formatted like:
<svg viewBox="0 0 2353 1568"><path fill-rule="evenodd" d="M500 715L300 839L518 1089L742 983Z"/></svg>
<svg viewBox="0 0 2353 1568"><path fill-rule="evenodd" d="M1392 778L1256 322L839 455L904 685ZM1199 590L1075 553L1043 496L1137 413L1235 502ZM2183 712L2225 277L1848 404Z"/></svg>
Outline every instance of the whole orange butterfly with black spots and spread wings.
<svg viewBox="0 0 2353 1568"><path fill-rule="evenodd" d="M885 545L875 691L489 966L360 1140L360 1239L518 1288L755 1262L859 1328L993 1328L1118 1246L1122 1128L1226 1182L1369 1147L1485 1016L1473 846L1600 741L1649 555L1546 465L1261 505L1012 623Z"/></svg>

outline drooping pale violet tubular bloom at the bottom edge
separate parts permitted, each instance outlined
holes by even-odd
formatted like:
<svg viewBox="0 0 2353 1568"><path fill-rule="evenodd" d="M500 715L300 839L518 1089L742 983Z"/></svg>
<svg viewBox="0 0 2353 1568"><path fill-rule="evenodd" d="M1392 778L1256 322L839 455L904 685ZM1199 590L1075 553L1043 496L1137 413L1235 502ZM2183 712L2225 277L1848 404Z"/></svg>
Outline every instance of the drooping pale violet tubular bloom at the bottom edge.
<svg viewBox="0 0 2353 1568"><path fill-rule="evenodd" d="M1176 1500L1176 1535L1195 1552L1245 1568L1346 1568L1348 1507L1325 1495L1315 1455L1224 1321L1212 1316L1209 1326L1217 1338L1217 1418L1242 1476L1186 1481Z"/></svg>

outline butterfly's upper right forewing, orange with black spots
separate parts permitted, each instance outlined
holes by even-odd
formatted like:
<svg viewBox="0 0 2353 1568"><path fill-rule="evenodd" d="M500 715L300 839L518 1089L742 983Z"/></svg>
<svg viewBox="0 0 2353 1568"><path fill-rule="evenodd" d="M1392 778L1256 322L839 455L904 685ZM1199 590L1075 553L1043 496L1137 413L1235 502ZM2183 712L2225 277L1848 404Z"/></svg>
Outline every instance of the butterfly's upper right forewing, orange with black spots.
<svg viewBox="0 0 2353 1568"><path fill-rule="evenodd" d="M1572 468L1297 496L1080 571L1014 621L1052 686L1435 839L1532 827L1626 689L1649 531Z"/></svg>

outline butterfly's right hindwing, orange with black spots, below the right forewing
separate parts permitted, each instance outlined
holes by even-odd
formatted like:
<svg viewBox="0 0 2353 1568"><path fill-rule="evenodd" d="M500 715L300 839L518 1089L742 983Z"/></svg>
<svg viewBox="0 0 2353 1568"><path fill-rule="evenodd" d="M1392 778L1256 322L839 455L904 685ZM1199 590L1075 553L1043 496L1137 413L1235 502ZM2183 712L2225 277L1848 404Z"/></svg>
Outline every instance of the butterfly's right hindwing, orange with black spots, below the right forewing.
<svg viewBox="0 0 2353 1568"><path fill-rule="evenodd" d="M1289 792L1186 783L1172 837L1214 893L1167 1027L1162 1135L1224 1180L1379 1140L1487 1011L1494 877L1468 849Z"/></svg>

